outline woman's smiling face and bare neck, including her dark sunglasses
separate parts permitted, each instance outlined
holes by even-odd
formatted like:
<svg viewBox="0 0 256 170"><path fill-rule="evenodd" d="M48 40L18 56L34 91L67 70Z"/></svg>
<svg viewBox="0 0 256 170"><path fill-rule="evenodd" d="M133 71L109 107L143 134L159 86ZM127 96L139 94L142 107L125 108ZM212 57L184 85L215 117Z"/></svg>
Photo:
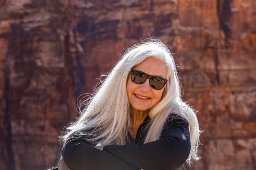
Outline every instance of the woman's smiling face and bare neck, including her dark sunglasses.
<svg viewBox="0 0 256 170"><path fill-rule="evenodd" d="M150 108L154 107L162 98L164 85L162 77L167 78L167 69L164 62L154 57L148 57L140 64L133 67L127 82L127 95L131 108L130 133L136 139L137 129L148 116ZM137 70L140 70L139 72ZM142 72L142 71L145 71ZM146 74L148 73L148 74ZM148 79L149 74L155 75ZM157 79L158 78L158 79ZM157 81L163 79L163 81ZM137 82L138 80L138 82ZM159 89L154 89L152 84L160 83ZM161 85L162 84L162 85Z"/></svg>

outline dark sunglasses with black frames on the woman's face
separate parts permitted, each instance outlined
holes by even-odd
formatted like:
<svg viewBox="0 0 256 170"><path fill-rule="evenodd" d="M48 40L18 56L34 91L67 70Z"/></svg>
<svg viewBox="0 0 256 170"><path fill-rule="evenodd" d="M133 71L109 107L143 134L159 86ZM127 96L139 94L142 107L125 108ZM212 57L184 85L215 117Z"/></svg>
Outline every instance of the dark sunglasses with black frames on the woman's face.
<svg viewBox="0 0 256 170"><path fill-rule="evenodd" d="M131 70L130 72L132 82L136 84L143 84L146 79L149 79L149 84L151 88L154 88L156 90L161 90L167 83L167 79L164 79L163 77L151 76L138 70Z"/></svg>

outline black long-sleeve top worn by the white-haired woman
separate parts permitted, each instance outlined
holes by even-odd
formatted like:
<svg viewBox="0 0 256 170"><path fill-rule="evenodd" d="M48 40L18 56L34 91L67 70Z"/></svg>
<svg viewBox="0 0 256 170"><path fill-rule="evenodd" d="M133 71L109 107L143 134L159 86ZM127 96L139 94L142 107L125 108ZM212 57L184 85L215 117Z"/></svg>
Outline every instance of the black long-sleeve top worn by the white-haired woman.
<svg viewBox="0 0 256 170"><path fill-rule="evenodd" d="M175 170L189 156L189 124L181 117L169 116L159 140L143 144L147 117L140 125L135 144L105 146L96 149L84 137L67 140L62 156L73 170ZM131 135L129 134L129 138Z"/></svg>

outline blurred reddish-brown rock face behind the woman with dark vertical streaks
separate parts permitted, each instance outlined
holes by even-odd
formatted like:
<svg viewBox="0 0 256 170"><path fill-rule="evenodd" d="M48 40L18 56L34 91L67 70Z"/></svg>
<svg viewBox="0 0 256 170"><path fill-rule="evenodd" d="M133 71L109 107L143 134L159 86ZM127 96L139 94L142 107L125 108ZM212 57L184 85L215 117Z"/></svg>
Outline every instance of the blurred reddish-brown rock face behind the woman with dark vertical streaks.
<svg viewBox="0 0 256 170"><path fill-rule="evenodd" d="M256 168L256 1L0 4L1 170L57 164L76 99L149 36L170 46L183 99L198 110L193 169Z"/></svg>

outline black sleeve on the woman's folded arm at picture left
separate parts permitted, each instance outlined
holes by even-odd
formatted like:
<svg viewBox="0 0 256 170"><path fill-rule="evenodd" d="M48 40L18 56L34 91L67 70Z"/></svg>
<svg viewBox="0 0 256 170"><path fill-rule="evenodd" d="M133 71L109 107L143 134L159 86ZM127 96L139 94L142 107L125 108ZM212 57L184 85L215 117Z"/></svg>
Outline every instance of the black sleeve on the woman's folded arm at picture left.
<svg viewBox="0 0 256 170"><path fill-rule="evenodd" d="M73 170L139 170L105 150L99 150L79 137L70 138L62 148L62 157Z"/></svg>

